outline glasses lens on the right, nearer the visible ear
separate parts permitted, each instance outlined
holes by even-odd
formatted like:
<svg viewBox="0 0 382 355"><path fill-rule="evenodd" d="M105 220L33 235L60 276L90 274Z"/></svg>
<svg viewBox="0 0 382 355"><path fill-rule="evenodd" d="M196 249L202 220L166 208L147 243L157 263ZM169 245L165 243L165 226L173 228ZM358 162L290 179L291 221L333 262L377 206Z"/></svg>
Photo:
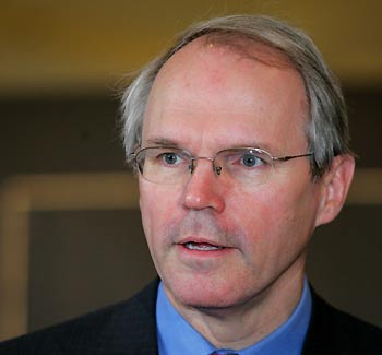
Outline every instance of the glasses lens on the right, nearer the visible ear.
<svg viewBox="0 0 382 355"><path fill-rule="evenodd" d="M215 166L222 167L222 175L240 184L263 184L272 175L272 156L260 149L229 149L219 152Z"/></svg>

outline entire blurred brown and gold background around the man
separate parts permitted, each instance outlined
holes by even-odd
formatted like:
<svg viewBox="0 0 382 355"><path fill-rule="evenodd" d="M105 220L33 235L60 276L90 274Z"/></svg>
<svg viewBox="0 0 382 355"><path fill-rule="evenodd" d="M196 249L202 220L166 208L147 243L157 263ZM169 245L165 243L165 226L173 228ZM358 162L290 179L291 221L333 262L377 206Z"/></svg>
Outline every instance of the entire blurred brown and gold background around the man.
<svg viewBox="0 0 382 355"><path fill-rule="evenodd" d="M263 13L313 37L339 76L358 171L317 230L310 280L382 326L382 4L0 1L0 340L122 300L155 276L119 137L117 83L192 22Z"/></svg>

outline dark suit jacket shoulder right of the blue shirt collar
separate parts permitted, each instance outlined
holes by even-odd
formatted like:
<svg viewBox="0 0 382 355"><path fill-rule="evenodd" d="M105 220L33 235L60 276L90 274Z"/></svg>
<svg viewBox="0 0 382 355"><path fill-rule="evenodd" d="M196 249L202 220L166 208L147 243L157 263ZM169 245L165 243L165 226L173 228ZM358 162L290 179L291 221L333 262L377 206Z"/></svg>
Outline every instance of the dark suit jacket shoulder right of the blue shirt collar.
<svg viewBox="0 0 382 355"><path fill-rule="evenodd" d="M312 292L303 354L382 354L381 328L343 312Z"/></svg>

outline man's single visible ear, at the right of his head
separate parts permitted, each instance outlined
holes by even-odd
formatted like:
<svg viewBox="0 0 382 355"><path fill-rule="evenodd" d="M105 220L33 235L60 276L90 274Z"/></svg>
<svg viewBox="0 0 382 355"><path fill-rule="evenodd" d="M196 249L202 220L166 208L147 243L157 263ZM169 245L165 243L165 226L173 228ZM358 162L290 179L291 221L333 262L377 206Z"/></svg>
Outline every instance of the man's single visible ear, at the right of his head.
<svg viewBox="0 0 382 355"><path fill-rule="evenodd" d="M342 210L353 180L355 159L351 155L337 155L331 169L320 179L321 203L315 226L333 221Z"/></svg>

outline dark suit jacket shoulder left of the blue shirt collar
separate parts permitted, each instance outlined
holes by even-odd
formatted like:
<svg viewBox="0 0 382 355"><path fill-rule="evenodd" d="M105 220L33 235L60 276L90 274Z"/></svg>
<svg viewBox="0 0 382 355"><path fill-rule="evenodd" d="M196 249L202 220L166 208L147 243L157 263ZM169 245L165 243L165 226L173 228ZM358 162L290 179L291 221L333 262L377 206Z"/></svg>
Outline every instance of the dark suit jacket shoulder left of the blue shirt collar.
<svg viewBox="0 0 382 355"><path fill-rule="evenodd" d="M157 285L155 281L126 301L5 341L0 354L155 354Z"/></svg>

